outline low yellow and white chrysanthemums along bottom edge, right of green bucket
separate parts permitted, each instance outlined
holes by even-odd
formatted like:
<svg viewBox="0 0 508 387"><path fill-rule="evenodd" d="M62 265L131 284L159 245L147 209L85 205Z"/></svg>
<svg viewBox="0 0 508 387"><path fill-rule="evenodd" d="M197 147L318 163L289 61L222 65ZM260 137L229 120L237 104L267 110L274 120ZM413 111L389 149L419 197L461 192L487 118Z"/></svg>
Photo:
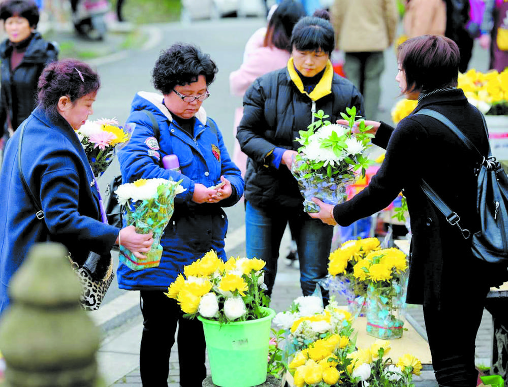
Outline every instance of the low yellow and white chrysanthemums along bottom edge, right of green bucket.
<svg viewBox="0 0 508 387"><path fill-rule="evenodd" d="M394 364L385 358L389 341L376 340L370 348L355 351L354 343L336 336L317 340L296 354L289 364L295 387L415 385L412 375L420 374L422 363L411 354L404 354Z"/></svg>

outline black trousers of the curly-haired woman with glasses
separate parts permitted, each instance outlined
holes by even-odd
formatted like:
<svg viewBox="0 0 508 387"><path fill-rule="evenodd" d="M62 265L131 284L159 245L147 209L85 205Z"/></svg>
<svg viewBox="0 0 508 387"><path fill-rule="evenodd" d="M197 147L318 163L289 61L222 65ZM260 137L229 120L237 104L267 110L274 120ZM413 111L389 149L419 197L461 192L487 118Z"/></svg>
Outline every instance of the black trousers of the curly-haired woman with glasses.
<svg viewBox="0 0 508 387"><path fill-rule="evenodd" d="M206 377L205 336L197 318L183 318L175 300L162 291L141 291L143 335L140 349L141 381L145 387L168 387L169 357L178 324L180 385L201 386Z"/></svg>

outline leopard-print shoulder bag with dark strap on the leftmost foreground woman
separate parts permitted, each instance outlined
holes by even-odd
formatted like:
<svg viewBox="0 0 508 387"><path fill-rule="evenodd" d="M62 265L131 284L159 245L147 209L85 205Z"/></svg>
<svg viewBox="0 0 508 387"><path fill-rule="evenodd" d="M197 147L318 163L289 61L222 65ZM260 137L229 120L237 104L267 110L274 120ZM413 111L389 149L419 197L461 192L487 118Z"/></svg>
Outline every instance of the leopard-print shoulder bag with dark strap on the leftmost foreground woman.
<svg viewBox="0 0 508 387"><path fill-rule="evenodd" d="M23 184L23 188L28 194L33 206L36 209L37 219L44 221L44 211L39 201L34 196L28 186L23 170L21 169L21 146L23 144L23 135L26 127L26 121L19 127L19 146L18 146L18 171ZM82 292L79 298L80 305L84 310L97 310L101 306L104 295L108 291L111 282L115 276L113 272L113 260L111 254L100 255L96 252L90 251L88 253L85 263L79 267L79 265L72 260L71 253L67 256L71 268L76 273L79 282L81 283Z"/></svg>

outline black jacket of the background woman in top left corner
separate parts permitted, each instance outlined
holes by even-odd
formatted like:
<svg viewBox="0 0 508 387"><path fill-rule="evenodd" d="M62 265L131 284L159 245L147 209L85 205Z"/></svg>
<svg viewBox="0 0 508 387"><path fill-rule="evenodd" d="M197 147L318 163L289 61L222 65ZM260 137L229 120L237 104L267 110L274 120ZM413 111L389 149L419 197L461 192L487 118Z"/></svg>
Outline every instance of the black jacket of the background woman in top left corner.
<svg viewBox="0 0 508 387"><path fill-rule="evenodd" d="M0 71L2 90L0 98L0 133L6 130L7 114L14 130L34 110L37 100L37 82L46 64L55 61L58 49L34 33L19 66L11 71L10 57L13 47L9 40L0 44Z"/></svg>

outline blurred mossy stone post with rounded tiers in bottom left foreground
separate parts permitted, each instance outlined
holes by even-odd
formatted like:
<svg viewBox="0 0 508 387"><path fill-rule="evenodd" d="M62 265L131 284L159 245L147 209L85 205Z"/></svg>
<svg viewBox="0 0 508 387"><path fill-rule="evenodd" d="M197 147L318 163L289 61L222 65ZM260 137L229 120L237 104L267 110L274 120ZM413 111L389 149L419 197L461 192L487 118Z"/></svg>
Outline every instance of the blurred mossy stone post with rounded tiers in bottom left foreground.
<svg viewBox="0 0 508 387"><path fill-rule="evenodd" d="M34 245L13 276L0 319L9 387L98 387L100 334L79 305L81 285L59 243Z"/></svg>

